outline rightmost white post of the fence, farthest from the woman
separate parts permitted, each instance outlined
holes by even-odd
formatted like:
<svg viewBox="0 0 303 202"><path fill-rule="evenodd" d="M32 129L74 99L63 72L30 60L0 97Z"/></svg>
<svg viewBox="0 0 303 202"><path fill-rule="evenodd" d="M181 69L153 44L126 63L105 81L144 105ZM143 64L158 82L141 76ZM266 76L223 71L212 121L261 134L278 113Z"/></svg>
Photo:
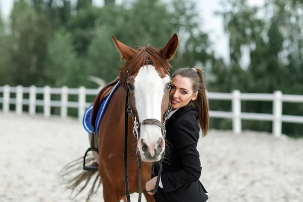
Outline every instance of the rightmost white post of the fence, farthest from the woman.
<svg viewBox="0 0 303 202"><path fill-rule="evenodd" d="M273 106L274 120L273 120L273 133L276 137L282 134L282 92L277 90L274 92L275 100Z"/></svg>

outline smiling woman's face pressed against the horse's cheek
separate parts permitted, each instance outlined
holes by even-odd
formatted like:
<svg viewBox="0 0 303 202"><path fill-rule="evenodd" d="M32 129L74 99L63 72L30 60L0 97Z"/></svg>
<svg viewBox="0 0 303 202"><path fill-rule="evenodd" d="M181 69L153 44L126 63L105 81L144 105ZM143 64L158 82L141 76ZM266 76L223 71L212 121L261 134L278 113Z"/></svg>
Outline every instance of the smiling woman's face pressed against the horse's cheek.
<svg viewBox="0 0 303 202"><path fill-rule="evenodd" d="M180 75L175 76L172 79L171 88L171 106L172 110L179 109L187 105L190 100L195 100L197 98L198 92L192 91L192 82L187 77L182 77Z"/></svg>

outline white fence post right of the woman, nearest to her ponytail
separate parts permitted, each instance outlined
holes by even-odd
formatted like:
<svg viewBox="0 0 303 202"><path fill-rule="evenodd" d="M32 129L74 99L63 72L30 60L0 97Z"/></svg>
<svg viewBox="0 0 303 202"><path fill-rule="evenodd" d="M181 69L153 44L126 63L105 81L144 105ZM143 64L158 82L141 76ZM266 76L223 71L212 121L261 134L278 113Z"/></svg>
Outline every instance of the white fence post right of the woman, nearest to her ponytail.
<svg viewBox="0 0 303 202"><path fill-rule="evenodd" d="M240 99L240 91L233 90L232 91L232 129L235 134L240 134L242 130L241 126L241 99Z"/></svg>

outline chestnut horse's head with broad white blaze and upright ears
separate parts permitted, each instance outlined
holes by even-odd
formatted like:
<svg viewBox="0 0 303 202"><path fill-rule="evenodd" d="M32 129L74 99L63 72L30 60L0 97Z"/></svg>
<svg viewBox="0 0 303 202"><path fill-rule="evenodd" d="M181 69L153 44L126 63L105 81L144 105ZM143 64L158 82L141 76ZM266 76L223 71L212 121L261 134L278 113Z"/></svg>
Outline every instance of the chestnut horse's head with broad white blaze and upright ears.
<svg viewBox="0 0 303 202"><path fill-rule="evenodd" d="M163 123L170 105L171 65L168 61L176 52L178 36L174 34L160 51L150 45L133 49L113 35L112 38L121 60L126 61L119 77L121 84L128 88L134 124L139 123L137 148L141 159L159 161L165 150Z"/></svg>

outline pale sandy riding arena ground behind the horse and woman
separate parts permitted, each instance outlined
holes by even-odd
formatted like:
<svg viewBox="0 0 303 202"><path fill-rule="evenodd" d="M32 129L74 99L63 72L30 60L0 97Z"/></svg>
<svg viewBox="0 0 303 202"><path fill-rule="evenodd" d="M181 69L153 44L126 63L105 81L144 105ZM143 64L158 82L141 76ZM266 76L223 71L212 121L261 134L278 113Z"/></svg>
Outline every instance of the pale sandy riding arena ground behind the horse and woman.
<svg viewBox="0 0 303 202"><path fill-rule="evenodd" d="M77 120L0 113L0 202L72 201L57 173L87 147ZM303 201L303 139L211 130L198 150L210 202Z"/></svg>

